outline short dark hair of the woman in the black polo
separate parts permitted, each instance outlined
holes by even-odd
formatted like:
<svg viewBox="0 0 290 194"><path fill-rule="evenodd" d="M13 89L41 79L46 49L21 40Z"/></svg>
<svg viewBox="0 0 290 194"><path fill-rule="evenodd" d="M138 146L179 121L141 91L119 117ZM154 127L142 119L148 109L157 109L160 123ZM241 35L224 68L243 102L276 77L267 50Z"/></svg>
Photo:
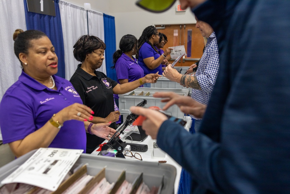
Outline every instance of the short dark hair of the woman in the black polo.
<svg viewBox="0 0 290 194"><path fill-rule="evenodd" d="M79 62L84 62L86 54L96 49L106 49L106 44L96 36L82 35L73 46L73 56Z"/></svg>

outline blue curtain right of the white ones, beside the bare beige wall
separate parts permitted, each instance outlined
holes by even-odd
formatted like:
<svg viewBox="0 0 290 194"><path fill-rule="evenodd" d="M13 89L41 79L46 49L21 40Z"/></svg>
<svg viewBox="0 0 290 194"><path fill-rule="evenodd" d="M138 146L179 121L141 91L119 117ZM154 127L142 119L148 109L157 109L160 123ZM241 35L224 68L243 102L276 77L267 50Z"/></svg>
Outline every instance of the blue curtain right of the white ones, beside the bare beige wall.
<svg viewBox="0 0 290 194"><path fill-rule="evenodd" d="M115 31L115 17L104 14L104 33L105 33L105 58L107 76L117 81L116 70L111 69L113 64L113 54L116 51L116 31Z"/></svg>

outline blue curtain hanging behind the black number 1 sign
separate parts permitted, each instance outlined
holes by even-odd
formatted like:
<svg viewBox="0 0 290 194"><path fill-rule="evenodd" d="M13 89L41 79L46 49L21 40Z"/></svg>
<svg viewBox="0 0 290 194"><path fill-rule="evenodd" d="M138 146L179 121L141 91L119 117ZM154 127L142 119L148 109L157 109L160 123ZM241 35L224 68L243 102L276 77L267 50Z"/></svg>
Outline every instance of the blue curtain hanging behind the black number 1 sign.
<svg viewBox="0 0 290 194"><path fill-rule="evenodd" d="M54 3L56 16L50 16L28 12L27 2L24 0L26 27L27 30L39 30L48 36L52 45L55 47L55 53L58 57L58 72L56 75L65 79L64 39L62 37L59 0L54 0Z"/></svg>

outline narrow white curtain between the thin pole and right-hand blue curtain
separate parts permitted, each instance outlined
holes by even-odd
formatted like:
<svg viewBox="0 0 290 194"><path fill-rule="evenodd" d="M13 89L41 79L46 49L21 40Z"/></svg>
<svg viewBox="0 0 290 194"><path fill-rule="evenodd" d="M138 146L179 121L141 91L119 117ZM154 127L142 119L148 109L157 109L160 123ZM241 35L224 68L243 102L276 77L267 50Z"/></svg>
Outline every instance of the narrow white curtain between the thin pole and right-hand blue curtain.
<svg viewBox="0 0 290 194"><path fill-rule="evenodd" d="M89 23L89 34L99 37L101 40L105 42L105 33L104 33L104 19L103 13L89 10L88 11L88 23ZM106 54L106 51L105 51ZM113 56L112 56L113 57ZM106 61L103 60L103 65L98 71L107 74L106 71Z"/></svg>

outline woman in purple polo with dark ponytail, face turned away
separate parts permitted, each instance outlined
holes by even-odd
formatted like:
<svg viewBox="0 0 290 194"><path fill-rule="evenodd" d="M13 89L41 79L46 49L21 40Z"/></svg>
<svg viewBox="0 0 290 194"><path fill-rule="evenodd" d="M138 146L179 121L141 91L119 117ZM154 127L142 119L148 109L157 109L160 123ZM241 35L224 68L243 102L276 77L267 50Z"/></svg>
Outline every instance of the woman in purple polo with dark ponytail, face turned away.
<svg viewBox="0 0 290 194"><path fill-rule="evenodd" d="M131 34L124 35L119 44L119 50L113 54L113 63L119 84L132 82L144 76L144 70L133 57L138 53L138 40ZM143 87L143 86L141 86ZM119 107L119 96L114 94L115 102Z"/></svg>

